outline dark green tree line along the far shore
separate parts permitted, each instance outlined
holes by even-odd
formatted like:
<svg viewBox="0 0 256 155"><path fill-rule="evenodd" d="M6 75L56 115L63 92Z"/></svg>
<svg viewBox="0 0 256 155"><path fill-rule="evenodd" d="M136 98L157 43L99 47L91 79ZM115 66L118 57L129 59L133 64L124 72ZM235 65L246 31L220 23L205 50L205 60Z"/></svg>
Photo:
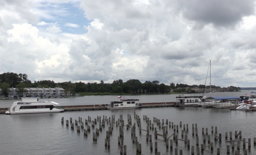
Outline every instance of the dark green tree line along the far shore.
<svg viewBox="0 0 256 155"><path fill-rule="evenodd" d="M16 74L13 72L7 72L0 74L0 89L2 93L6 94L9 88L17 88L18 92L26 92L25 88L63 88L65 93L75 95L76 93L125 93L125 94L157 94L157 93L169 93L171 90L178 93L195 93L192 88L209 88L210 86L204 85L187 85L187 84L174 84L166 85L159 81L145 81L141 83L138 79L130 79L124 82L122 79L114 80L112 83L83 83L76 82L71 83L62 82L55 83L50 80L34 81L32 83L26 74ZM186 89L188 87L188 89ZM233 87L233 86L231 86ZM220 88L220 86L212 85L211 88ZM235 87L234 87L235 88ZM7 91L7 92L6 92Z"/></svg>

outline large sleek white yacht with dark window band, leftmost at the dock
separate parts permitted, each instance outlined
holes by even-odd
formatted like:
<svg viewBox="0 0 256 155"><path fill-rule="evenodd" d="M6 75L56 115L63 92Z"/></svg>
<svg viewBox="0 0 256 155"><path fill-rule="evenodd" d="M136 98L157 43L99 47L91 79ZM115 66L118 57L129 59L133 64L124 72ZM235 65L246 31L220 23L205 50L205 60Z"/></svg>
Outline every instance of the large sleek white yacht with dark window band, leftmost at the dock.
<svg viewBox="0 0 256 155"><path fill-rule="evenodd" d="M16 101L10 107L10 111L5 114L30 114L30 113L45 113L45 112L61 112L64 109L55 108L54 105L59 105L53 101L39 101L39 98L21 98L22 101Z"/></svg>

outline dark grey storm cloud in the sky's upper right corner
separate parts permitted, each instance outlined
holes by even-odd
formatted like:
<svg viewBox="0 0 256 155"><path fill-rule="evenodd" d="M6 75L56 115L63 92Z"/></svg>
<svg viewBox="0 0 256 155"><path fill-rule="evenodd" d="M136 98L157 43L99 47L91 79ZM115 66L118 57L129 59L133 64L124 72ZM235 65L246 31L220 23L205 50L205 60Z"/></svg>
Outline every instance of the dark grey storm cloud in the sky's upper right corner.
<svg viewBox="0 0 256 155"><path fill-rule="evenodd" d="M181 0L178 3L185 18L215 26L234 26L242 17L255 12L254 0Z"/></svg>

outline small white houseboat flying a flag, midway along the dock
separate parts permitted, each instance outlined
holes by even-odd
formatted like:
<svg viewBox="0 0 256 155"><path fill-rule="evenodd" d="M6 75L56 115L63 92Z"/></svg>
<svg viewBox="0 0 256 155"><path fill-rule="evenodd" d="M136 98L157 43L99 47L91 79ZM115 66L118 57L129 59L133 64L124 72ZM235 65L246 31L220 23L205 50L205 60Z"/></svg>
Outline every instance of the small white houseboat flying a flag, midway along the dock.
<svg viewBox="0 0 256 155"><path fill-rule="evenodd" d="M141 103L137 103L138 99L123 99L120 101L112 101L107 105L108 109L131 109L141 108Z"/></svg>

